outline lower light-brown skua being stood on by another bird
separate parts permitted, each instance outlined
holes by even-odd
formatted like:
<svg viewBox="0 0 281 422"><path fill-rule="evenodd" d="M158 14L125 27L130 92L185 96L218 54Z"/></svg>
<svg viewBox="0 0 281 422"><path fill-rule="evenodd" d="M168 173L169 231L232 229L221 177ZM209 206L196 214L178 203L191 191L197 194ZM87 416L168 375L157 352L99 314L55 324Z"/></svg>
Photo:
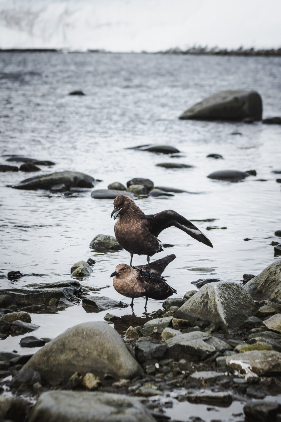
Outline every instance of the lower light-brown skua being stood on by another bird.
<svg viewBox="0 0 281 422"><path fill-rule="evenodd" d="M127 264L119 264L116 266L113 277L114 289L127 298L132 298L131 306L133 306L134 298L146 297L146 304L151 299L167 299L173 293L177 293L173 287L170 287L165 279L160 277L169 262L176 258L175 255L168 255L165 258L151 262L151 278L143 276L142 267L130 267ZM146 304L144 308L146 309Z"/></svg>

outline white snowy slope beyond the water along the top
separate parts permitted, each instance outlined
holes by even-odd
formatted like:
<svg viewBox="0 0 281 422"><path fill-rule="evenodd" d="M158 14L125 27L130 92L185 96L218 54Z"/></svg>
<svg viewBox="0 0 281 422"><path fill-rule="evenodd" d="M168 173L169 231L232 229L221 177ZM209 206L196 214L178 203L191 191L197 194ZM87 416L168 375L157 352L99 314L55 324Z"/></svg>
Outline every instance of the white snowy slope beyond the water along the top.
<svg viewBox="0 0 281 422"><path fill-rule="evenodd" d="M281 47L281 0L0 0L0 48Z"/></svg>

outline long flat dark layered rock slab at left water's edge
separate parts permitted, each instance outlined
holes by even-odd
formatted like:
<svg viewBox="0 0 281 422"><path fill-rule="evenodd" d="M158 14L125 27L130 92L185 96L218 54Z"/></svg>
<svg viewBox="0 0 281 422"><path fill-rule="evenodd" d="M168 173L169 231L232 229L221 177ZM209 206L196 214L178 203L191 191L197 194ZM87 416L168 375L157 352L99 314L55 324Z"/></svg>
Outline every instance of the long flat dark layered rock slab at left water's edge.
<svg viewBox="0 0 281 422"><path fill-rule="evenodd" d="M9 295L17 306L22 307L48 304L53 298L76 299L81 292L81 284L76 280L28 284L26 287L0 290L0 298L1 294Z"/></svg>

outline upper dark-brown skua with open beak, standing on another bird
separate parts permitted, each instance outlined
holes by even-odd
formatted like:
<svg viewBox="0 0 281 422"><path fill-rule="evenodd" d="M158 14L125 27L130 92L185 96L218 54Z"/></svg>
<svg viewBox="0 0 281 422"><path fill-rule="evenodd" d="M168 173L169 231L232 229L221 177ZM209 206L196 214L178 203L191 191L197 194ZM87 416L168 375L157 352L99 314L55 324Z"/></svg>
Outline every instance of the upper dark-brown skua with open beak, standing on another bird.
<svg viewBox="0 0 281 422"><path fill-rule="evenodd" d="M192 222L176 211L166 210L145 215L134 200L125 195L117 196L113 206L111 217L113 216L115 220L119 214L119 220L114 226L116 239L126 251L130 252L130 266L134 254L147 256L147 271L143 275L148 278L151 277L149 257L163 250L157 236L168 227L177 227L197 241L213 247L209 239Z"/></svg>

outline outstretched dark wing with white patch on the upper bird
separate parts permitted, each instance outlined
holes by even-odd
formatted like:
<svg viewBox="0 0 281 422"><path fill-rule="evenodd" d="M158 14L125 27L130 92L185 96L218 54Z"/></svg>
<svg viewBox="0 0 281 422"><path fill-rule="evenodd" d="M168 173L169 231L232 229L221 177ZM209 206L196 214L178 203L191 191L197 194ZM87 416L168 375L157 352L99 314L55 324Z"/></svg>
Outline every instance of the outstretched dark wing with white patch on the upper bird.
<svg viewBox="0 0 281 422"><path fill-rule="evenodd" d="M183 230L189 236L196 239L198 242L202 242L207 246L213 247L209 239L192 224L191 221L184 218L181 214L178 214L173 210L161 211L157 214L146 215L143 219L147 220L149 231L157 237L162 230L168 227L175 226L178 229Z"/></svg>

